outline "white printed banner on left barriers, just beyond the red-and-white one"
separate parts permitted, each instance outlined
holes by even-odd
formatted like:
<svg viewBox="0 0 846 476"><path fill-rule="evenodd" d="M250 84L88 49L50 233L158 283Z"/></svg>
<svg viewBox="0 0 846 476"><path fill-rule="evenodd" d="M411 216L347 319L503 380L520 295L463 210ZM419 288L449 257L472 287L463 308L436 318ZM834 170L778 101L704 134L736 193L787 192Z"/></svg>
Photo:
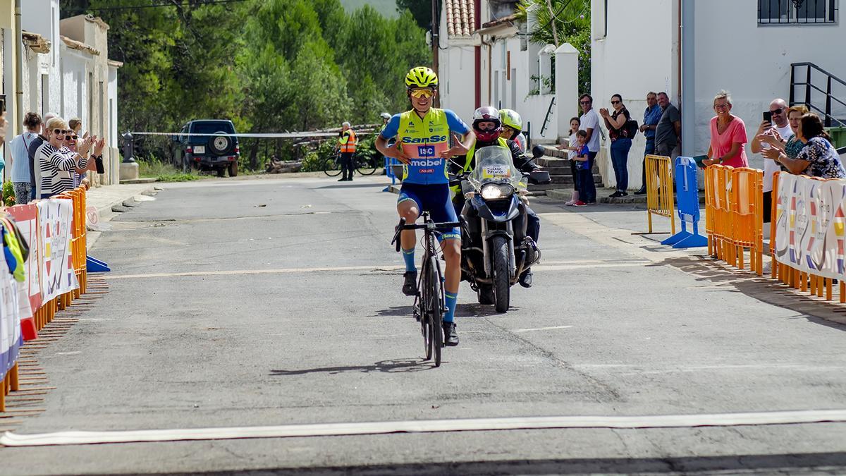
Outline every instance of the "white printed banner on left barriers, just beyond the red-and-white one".
<svg viewBox="0 0 846 476"><path fill-rule="evenodd" d="M41 241L41 299L44 302L79 287L70 249L74 202L50 199L37 202Z"/></svg>

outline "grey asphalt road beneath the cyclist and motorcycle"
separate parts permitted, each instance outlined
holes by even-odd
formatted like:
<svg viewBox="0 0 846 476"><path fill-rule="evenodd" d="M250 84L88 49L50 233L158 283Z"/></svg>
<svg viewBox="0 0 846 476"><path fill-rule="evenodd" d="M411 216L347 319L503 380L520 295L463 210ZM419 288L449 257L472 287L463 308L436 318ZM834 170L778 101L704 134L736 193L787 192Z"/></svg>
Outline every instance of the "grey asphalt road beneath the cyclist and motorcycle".
<svg viewBox="0 0 846 476"><path fill-rule="evenodd" d="M535 286L497 314L463 284L432 368L383 186L209 180L121 213L92 250L110 291L41 353L57 389L18 433L846 408L846 327L618 208L538 202ZM846 471L846 423L682 426L7 447L0 473Z"/></svg>

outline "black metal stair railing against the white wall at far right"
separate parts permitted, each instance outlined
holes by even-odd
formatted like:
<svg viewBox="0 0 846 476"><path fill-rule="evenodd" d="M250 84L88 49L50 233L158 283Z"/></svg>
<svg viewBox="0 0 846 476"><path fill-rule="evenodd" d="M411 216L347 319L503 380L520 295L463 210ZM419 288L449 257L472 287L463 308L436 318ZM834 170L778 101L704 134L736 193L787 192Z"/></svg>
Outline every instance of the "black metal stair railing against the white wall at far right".
<svg viewBox="0 0 846 476"><path fill-rule="evenodd" d="M801 68L805 68L805 80L799 82L797 80L801 75ZM814 84L814 75L812 73L815 71L823 75L822 80L826 84L825 89L822 89L820 86L816 86ZM819 84L819 82L816 84ZM796 95L797 86L804 86L800 89L799 99ZM838 119L832 115L832 108L843 108L843 110L846 111L846 102L843 102L842 99L832 93L832 86L842 88L843 97L846 97L846 81L841 80L837 76L832 75L825 69L821 69L813 63L790 64L790 105L793 106L796 103L807 105L811 111L820 113L826 127L832 127L832 125L846 126L846 122L843 122L846 119ZM805 94L804 99L801 96L803 92ZM822 106L820 105L820 102L814 101L815 97L821 96L824 97L825 102Z"/></svg>

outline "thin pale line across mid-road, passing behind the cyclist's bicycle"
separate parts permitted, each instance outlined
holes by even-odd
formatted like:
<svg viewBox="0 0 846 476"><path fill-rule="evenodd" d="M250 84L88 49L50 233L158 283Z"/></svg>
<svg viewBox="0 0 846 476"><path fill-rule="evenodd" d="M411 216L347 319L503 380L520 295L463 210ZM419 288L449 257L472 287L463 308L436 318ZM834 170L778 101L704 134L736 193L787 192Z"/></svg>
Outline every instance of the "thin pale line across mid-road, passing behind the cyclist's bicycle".
<svg viewBox="0 0 846 476"><path fill-rule="evenodd" d="M632 268L649 264L648 261L551 261L541 262L532 267L534 271L561 271L569 269L586 268ZM137 280L146 278L179 278L185 276L231 276L245 274L286 274L286 273L321 273L339 271L399 271L404 266L388 264L385 266L337 266L337 267L316 267L316 268L275 268L275 269L226 269L222 271L186 271L183 273L147 273L147 274L115 274L103 276L107 280Z"/></svg>

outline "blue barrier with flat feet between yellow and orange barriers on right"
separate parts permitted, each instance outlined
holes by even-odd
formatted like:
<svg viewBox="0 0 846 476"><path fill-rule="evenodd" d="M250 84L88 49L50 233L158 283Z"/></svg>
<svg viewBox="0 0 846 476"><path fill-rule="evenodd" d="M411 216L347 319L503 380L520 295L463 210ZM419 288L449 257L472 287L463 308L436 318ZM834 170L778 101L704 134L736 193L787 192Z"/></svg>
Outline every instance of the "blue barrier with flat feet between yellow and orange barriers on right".
<svg viewBox="0 0 846 476"><path fill-rule="evenodd" d="M699 234L699 180L696 176L696 162L693 158L679 157L675 163L676 202L678 219L682 230L661 242L673 248L692 248L708 246L708 239ZM690 224L693 232L687 230Z"/></svg>

